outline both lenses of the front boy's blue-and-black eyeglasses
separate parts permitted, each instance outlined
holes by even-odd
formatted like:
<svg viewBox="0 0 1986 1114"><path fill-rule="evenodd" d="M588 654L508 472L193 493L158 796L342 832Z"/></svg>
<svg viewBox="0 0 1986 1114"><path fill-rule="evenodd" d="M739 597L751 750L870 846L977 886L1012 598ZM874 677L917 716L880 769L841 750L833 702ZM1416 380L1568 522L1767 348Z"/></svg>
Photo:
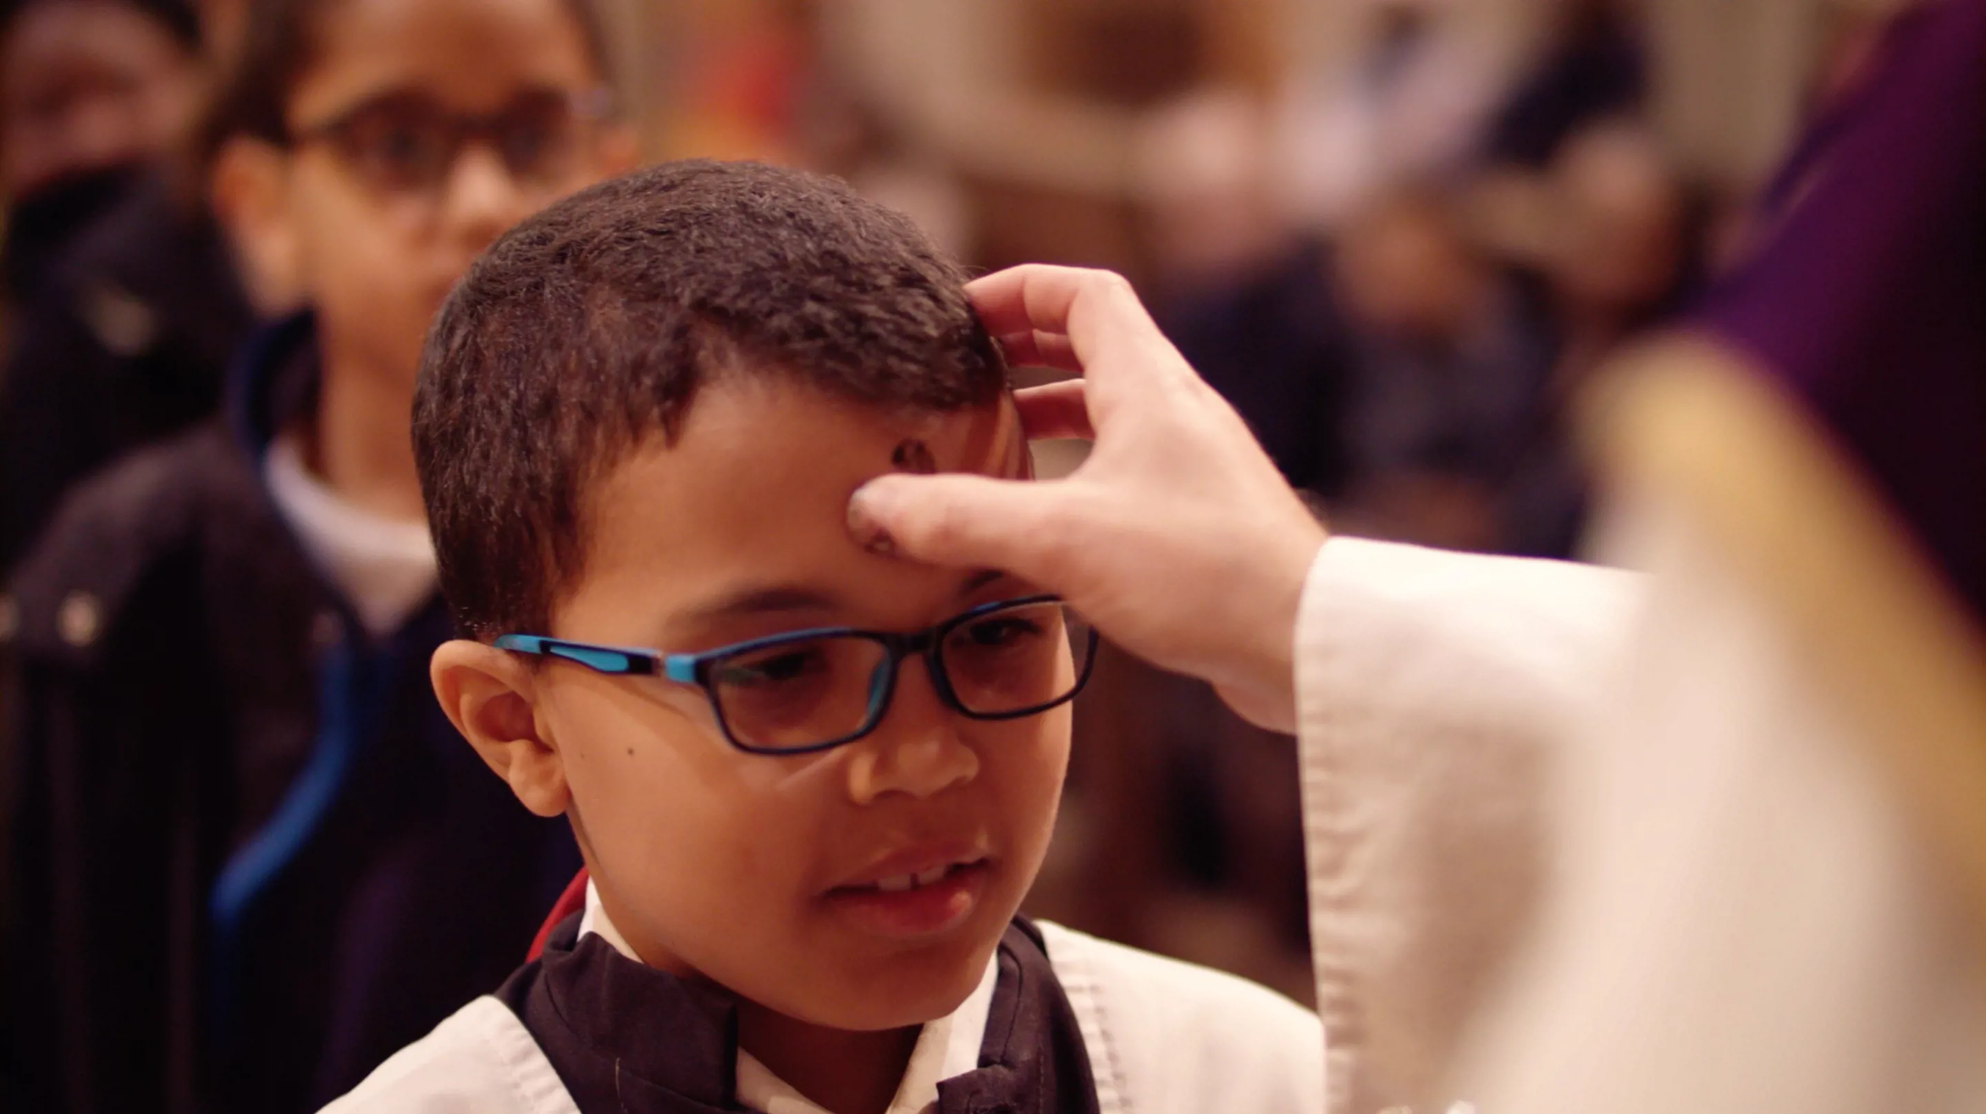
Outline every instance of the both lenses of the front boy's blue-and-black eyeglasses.
<svg viewBox="0 0 1986 1114"><path fill-rule="evenodd" d="M1043 602L975 616L943 631L937 659L959 707L979 717L1066 699L1088 667L1090 633L1066 604ZM890 685L890 649L874 637L786 641L717 661L707 687L731 739L796 751L868 725Z"/></svg>

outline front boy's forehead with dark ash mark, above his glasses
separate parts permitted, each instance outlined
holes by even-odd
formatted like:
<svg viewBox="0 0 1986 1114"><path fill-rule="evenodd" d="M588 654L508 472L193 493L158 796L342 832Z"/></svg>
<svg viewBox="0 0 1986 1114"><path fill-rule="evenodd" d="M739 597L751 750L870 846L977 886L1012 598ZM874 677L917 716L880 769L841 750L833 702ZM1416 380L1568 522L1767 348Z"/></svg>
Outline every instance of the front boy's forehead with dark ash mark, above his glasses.
<svg viewBox="0 0 1986 1114"><path fill-rule="evenodd" d="M848 536L848 496L894 471L1025 477L1013 401L914 411L796 383L711 383L673 439L643 439L600 477L580 594L626 606L622 637L755 592L856 610L902 600L906 614L920 596L949 602L969 574L876 556Z"/></svg>

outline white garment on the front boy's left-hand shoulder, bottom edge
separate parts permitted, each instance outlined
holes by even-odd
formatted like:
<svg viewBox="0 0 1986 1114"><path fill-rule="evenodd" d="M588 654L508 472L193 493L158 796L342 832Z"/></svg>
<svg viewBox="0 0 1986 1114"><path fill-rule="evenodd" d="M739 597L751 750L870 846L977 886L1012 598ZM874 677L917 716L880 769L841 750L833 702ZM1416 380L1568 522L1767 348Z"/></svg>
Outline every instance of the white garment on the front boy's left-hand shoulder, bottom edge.
<svg viewBox="0 0 1986 1114"><path fill-rule="evenodd" d="M580 1108L510 1007L479 997L322 1114L359 1112L580 1114Z"/></svg>

